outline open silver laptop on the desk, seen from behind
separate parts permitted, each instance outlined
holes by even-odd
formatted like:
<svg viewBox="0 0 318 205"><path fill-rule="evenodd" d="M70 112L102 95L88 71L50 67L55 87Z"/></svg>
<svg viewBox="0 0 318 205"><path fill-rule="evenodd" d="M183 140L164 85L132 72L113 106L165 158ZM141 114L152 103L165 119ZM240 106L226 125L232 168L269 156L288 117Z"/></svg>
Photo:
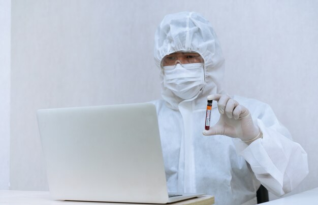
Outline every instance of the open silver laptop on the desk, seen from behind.
<svg viewBox="0 0 318 205"><path fill-rule="evenodd" d="M136 103L37 111L56 200L169 203L155 106Z"/></svg>

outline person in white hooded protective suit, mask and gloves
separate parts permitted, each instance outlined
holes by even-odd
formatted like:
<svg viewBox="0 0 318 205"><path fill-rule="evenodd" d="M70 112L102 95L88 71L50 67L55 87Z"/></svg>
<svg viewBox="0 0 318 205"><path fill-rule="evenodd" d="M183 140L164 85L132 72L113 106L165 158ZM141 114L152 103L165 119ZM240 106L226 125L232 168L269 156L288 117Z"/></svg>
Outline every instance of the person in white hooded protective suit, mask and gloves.
<svg viewBox="0 0 318 205"><path fill-rule="evenodd" d="M203 16L165 16L155 32L154 59L163 100L153 103L169 192L204 192L215 204L256 204L261 184L281 196L308 174L306 152L269 105L222 89L224 57ZM207 98L213 100L208 131Z"/></svg>

